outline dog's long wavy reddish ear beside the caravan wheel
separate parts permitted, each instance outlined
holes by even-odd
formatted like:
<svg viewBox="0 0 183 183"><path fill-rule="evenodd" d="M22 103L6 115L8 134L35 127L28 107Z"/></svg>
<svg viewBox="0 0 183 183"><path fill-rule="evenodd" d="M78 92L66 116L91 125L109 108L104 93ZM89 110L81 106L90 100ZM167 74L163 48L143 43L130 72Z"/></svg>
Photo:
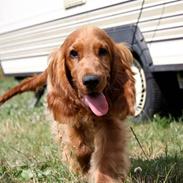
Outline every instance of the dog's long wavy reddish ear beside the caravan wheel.
<svg viewBox="0 0 183 183"><path fill-rule="evenodd" d="M135 80L131 70L133 56L127 46L115 44L113 64L111 68L111 95L117 100L116 109L126 115L134 114ZM120 106L120 107L119 107ZM122 116L123 116L122 115Z"/></svg>

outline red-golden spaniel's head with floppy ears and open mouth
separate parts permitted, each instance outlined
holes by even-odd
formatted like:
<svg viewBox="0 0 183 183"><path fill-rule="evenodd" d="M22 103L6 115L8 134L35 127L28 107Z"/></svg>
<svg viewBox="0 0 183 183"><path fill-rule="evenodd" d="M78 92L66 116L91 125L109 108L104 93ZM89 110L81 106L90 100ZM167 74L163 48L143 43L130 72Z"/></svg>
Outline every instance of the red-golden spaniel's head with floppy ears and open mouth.
<svg viewBox="0 0 183 183"><path fill-rule="evenodd" d="M107 114L113 102L126 95L125 84L134 83L130 51L96 27L82 27L70 34L50 60L53 90L80 101L96 116Z"/></svg>

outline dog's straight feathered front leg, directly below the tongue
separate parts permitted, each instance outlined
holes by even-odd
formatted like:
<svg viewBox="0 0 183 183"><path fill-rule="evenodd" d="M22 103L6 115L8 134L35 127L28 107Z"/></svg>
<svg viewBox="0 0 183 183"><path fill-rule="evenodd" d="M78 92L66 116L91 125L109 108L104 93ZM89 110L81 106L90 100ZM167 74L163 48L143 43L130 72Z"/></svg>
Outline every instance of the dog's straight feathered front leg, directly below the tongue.
<svg viewBox="0 0 183 183"><path fill-rule="evenodd" d="M91 159L91 183L122 183L128 173L127 130L122 121L106 119L96 124Z"/></svg>

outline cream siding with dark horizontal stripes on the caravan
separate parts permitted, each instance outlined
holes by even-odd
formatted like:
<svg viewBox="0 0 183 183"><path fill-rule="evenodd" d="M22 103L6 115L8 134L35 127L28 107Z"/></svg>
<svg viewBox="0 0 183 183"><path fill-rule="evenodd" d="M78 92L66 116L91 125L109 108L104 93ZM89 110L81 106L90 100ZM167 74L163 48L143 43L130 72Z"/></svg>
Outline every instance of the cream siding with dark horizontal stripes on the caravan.
<svg viewBox="0 0 183 183"><path fill-rule="evenodd" d="M48 55L70 32L82 25L108 28L135 24L141 3L126 1L0 34L0 59L8 61ZM183 38L183 1L146 0L139 27L147 42Z"/></svg>

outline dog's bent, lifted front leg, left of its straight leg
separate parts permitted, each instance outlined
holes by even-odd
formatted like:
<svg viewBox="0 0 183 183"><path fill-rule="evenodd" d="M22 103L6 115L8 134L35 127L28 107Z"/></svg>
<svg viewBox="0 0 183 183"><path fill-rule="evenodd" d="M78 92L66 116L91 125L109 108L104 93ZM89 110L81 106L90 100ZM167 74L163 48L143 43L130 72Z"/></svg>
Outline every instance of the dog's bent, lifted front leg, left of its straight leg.
<svg viewBox="0 0 183 183"><path fill-rule="evenodd" d="M86 137L87 129L82 130L81 127L77 128L57 122L52 129L61 146L62 160L69 165L71 171L87 173L93 152L92 142Z"/></svg>

